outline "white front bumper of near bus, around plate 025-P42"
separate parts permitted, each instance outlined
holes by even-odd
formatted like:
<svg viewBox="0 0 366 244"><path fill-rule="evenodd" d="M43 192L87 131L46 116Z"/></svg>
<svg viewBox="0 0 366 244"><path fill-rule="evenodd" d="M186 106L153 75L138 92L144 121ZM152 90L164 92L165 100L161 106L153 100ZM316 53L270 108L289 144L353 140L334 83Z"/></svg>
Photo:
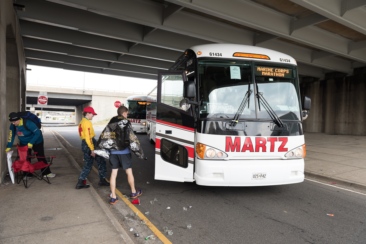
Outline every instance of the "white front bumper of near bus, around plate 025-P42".
<svg viewBox="0 0 366 244"><path fill-rule="evenodd" d="M265 177L258 179L259 174ZM304 181L304 159L203 160L195 158L198 185L259 186Z"/></svg>

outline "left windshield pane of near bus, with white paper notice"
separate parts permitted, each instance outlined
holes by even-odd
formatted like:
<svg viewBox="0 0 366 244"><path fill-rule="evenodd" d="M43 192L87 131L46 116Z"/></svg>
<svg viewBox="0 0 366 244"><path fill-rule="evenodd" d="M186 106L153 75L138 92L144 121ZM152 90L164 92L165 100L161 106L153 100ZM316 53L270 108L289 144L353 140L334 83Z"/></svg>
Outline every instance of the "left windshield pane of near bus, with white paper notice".
<svg viewBox="0 0 366 244"><path fill-rule="evenodd" d="M245 94L254 90L251 62L205 59L198 64L198 101L203 100L199 107L199 117L233 118ZM254 92L240 118L255 119Z"/></svg>

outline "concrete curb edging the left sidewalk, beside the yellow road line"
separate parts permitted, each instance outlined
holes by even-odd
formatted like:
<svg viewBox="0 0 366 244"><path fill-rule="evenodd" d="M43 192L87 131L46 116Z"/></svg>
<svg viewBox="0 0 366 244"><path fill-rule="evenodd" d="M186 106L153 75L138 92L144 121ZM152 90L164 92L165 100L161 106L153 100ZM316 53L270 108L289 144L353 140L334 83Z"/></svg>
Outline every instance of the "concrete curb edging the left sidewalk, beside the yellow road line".
<svg viewBox="0 0 366 244"><path fill-rule="evenodd" d="M75 168L78 169L81 172L81 168L78 165L78 163L75 161L75 158L71 156L71 154L66 149L66 147L64 147L64 145L59 141L59 139L57 139L57 136L55 135L55 133L51 129L50 129L50 131L51 131L52 135L55 136L55 138L56 138L57 142L59 143L60 147L65 150L65 153L66 153L67 157L70 159L70 161L75 166ZM96 198L97 202L101 206L101 208L104 211L104 213L108 216L108 218L111 221L112 225L115 226L115 228L117 229L117 231L120 233L120 236L122 237L122 239L126 243L128 243L128 244L134 244L134 242L131 240L130 236L128 236L128 234L126 233L126 230L124 230L122 228L122 226L120 225L120 223L118 222L118 220L114 217L114 215L112 214L111 210L109 210L108 207L105 206L105 203L100 198L99 194L94 189L94 187L93 187L92 184L90 184L89 189L91 191L91 194L93 194L93 196Z"/></svg>

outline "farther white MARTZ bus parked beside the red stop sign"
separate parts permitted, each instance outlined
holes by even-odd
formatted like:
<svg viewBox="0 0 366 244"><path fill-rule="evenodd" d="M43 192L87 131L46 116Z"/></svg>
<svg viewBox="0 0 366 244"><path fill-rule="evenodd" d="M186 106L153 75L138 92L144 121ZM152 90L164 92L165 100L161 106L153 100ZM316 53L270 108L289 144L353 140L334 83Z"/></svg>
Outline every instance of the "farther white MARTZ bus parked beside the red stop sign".
<svg viewBox="0 0 366 244"><path fill-rule="evenodd" d="M131 121L134 132L146 132L146 95L133 95L126 98L127 119Z"/></svg>

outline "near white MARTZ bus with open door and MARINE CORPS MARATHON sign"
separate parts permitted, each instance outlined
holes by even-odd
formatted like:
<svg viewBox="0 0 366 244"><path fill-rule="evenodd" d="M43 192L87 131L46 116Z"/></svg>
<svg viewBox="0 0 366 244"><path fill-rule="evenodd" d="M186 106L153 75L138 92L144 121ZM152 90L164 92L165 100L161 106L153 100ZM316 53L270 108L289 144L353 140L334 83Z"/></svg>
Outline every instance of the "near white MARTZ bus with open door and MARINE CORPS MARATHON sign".
<svg viewBox="0 0 366 244"><path fill-rule="evenodd" d="M194 46L159 72L155 94L147 107L155 179L217 186L304 180L310 98L301 104L292 57L256 46Z"/></svg>

